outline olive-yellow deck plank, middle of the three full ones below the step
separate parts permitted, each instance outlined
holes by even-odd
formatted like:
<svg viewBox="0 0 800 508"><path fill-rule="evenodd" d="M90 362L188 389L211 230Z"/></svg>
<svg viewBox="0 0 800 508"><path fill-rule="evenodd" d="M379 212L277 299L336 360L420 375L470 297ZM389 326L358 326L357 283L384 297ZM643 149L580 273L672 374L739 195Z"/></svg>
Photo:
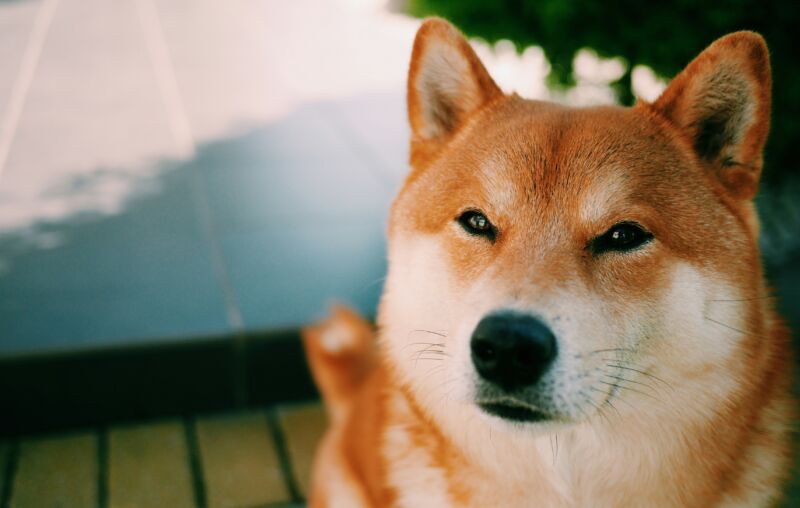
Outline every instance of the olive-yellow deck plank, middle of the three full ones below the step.
<svg viewBox="0 0 800 508"><path fill-rule="evenodd" d="M115 427L108 436L110 508L194 508L183 424Z"/></svg>

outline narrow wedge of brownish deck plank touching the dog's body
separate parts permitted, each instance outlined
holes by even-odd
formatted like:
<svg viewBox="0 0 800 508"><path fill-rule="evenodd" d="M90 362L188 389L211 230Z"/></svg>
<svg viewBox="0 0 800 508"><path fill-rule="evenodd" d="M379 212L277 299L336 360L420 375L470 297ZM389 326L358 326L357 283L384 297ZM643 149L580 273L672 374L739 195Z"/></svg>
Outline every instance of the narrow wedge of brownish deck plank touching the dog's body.
<svg viewBox="0 0 800 508"><path fill-rule="evenodd" d="M319 404L283 407L278 410L278 420L297 488L307 497L314 452L327 426L325 410Z"/></svg>

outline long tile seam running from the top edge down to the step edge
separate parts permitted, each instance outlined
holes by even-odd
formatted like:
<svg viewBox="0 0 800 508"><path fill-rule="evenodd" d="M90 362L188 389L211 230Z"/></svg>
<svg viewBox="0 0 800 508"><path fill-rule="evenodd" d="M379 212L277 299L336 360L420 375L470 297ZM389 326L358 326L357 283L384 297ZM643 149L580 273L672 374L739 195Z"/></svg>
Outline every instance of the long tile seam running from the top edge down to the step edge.
<svg viewBox="0 0 800 508"><path fill-rule="evenodd" d="M169 56L169 49L164 40L164 30L158 15L158 10L153 0L136 0L139 23L145 40L146 49L153 66L161 100L166 110L169 128L178 145L181 157L192 157L196 152L194 135L186 114L183 97L181 95L175 67ZM194 173L192 181L198 196L195 204L198 208L200 227L206 236L211 250L211 263L214 275L222 290L225 303L225 317L228 326L233 331L244 329L241 310L239 309L236 293L230 279L228 266L222 254L222 247L216 234L211 207L208 203L208 190L202 174Z"/></svg>

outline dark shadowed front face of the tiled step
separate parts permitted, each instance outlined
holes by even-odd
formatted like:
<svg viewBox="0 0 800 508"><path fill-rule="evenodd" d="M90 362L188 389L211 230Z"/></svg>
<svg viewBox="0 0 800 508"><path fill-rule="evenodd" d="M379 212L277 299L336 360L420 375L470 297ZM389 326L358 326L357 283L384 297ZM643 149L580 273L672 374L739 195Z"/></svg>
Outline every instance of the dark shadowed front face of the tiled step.
<svg viewBox="0 0 800 508"><path fill-rule="evenodd" d="M0 435L314 400L297 330L0 358Z"/></svg>

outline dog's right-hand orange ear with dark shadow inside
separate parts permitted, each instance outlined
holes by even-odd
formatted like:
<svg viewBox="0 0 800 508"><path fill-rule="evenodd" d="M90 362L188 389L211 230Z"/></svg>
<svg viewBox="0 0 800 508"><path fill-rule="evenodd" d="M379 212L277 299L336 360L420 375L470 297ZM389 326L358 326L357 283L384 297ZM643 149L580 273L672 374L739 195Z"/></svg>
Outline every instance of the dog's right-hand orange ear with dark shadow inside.
<svg viewBox="0 0 800 508"><path fill-rule="evenodd" d="M769 51L754 32L736 32L709 46L653 104L692 143L708 170L734 196L758 190L769 132Z"/></svg>

